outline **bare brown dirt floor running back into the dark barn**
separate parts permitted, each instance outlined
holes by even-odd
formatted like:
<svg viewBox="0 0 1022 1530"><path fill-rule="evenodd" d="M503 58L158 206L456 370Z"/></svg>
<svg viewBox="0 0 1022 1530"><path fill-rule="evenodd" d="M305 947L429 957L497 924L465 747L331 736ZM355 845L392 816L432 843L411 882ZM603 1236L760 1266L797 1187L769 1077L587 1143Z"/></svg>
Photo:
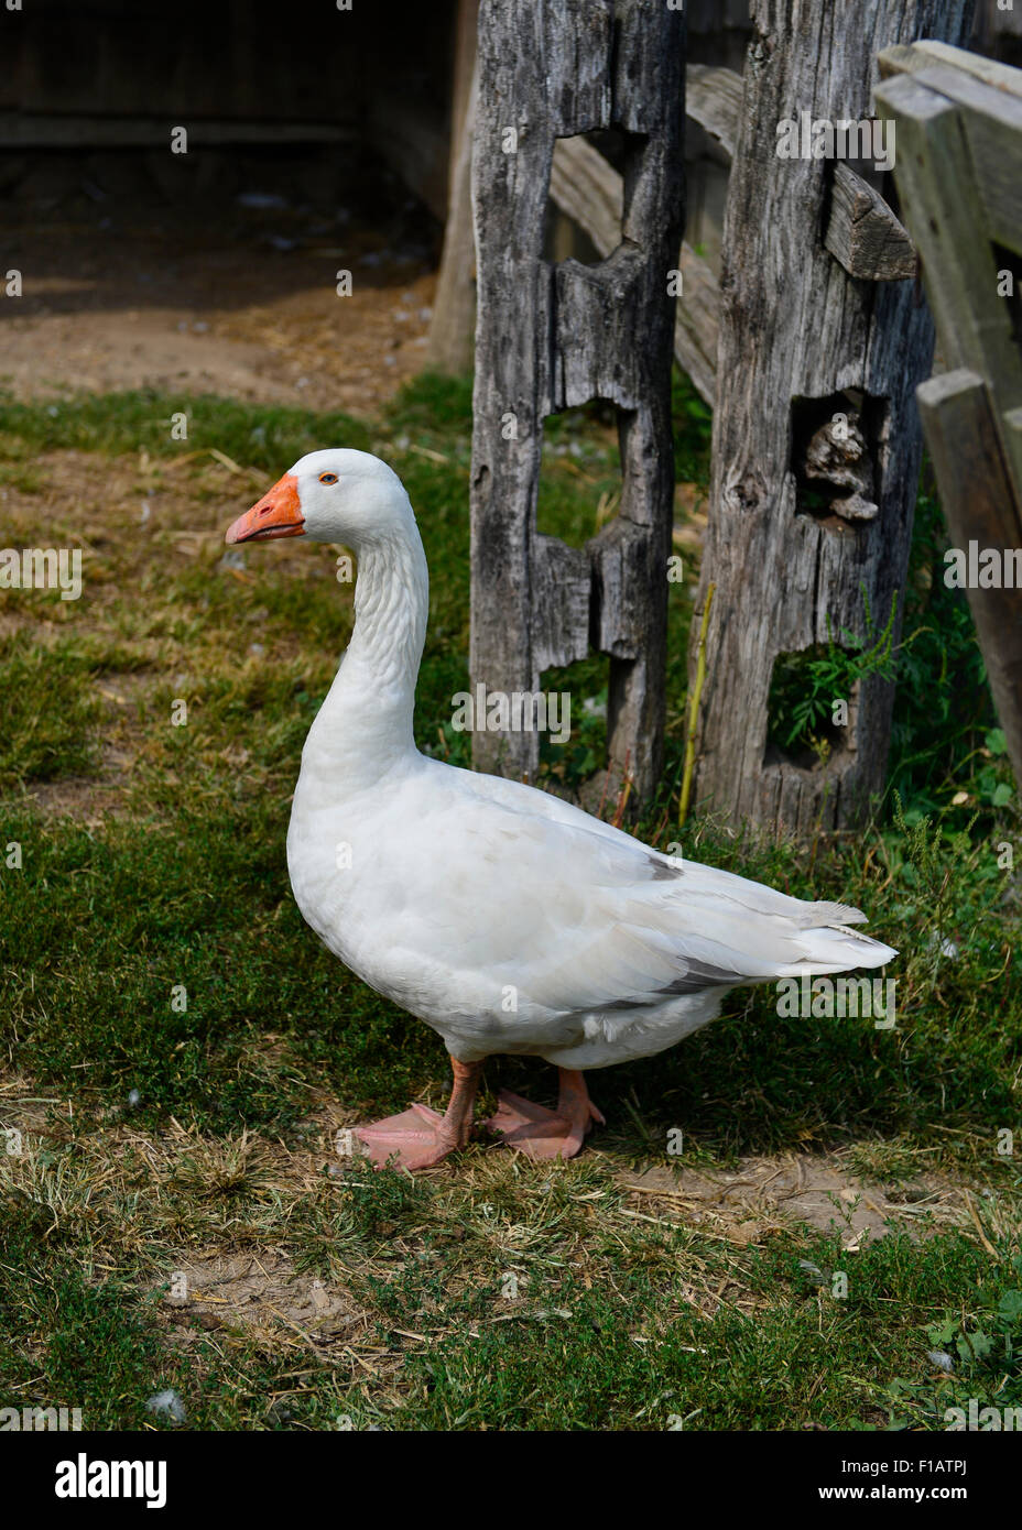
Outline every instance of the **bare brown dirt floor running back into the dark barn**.
<svg viewBox="0 0 1022 1530"><path fill-rule="evenodd" d="M23 275L0 301L0 387L373 412L422 367L436 230L382 171L338 188L291 170L225 158L196 191L141 155L26 164L0 203Z"/></svg>

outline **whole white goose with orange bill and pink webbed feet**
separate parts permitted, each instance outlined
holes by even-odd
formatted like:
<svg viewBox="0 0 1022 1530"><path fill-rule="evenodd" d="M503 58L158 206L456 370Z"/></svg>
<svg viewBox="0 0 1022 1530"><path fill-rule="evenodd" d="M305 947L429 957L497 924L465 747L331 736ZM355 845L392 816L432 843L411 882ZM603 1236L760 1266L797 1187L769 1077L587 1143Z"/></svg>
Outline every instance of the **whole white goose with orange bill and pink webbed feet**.
<svg viewBox="0 0 1022 1530"><path fill-rule="evenodd" d="M678 864L558 797L419 754L415 684L428 572L399 477L364 451L311 451L226 540L312 537L358 557L355 630L301 753L288 831L317 935L451 1056L444 1115L413 1105L358 1129L408 1169L464 1148L485 1057L560 1069L557 1111L500 1095L488 1123L535 1158L594 1120L583 1071L649 1057L713 1021L736 984L878 967L864 915Z"/></svg>

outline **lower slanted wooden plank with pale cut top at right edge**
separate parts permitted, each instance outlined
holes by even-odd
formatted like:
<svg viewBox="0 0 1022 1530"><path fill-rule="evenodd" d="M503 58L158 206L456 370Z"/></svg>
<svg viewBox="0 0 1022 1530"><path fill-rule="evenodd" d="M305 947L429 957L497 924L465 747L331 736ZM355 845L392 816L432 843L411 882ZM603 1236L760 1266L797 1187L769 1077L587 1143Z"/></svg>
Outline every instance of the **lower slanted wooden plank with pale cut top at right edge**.
<svg viewBox="0 0 1022 1530"><path fill-rule="evenodd" d="M967 369L918 389L952 546L1022 549L1019 506L984 379ZM967 589L993 702L1022 782L1022 589Z"/></svg>

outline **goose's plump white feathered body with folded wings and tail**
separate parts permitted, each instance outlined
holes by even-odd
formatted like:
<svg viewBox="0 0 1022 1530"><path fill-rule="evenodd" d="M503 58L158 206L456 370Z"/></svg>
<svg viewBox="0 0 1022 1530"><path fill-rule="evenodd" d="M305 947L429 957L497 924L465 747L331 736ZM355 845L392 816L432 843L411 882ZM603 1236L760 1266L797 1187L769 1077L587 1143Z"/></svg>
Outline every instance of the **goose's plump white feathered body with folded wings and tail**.
<svg viewBox="0 0 1022 1530"><path fill-rule="evenodd" d="M854 909L676 861L558 797L421 754L338 800L308 748L288 863L326 946L462 1062L604 1068L705 1025L736 984L893 956L826 927Z"/></svg>

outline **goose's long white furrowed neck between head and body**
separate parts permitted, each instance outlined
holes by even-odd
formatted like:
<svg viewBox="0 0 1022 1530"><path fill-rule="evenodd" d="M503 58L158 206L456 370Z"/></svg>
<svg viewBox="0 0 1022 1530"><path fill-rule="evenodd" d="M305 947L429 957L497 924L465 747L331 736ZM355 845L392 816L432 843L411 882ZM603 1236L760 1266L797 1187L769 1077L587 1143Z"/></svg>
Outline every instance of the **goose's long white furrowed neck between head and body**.
<svg viewBox="0 0 1022 1530"><path fill-rule="evenodd" d="M425 552L408 509L404 525L358 549L355 630L309 730L303 774L360 791L418 754L412 716L428 604Z"/></svg>

